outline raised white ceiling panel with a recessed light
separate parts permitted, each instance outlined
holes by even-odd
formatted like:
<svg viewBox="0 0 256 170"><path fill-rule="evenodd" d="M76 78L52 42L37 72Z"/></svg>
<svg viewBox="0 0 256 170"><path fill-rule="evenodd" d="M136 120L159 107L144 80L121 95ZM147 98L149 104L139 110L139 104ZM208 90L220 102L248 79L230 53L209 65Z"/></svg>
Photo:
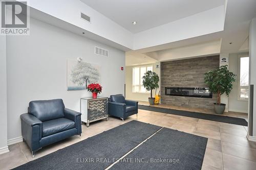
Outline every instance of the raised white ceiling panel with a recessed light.
<svg viewBox="0 0 256 170"><path fill-rule="evenodd" d="M132 33L145 31L224 4L224 0L80 1ZM133 25L133 21L137 21L137 25Z"/></svg>

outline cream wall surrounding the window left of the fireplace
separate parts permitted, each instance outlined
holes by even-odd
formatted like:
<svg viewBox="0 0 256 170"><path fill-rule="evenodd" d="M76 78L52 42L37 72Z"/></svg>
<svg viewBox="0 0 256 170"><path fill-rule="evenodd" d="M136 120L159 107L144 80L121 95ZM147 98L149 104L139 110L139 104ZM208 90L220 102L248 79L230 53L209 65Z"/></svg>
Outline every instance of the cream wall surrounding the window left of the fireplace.
<svg viewBox="0 0 256 170"><path fill-rule="evenodd" d="M156 72L156 74L159 76L159 88L157 89L157 92L159 89L161 89L160 82L161 82L161 67L156 68L156 64L159 66L161 65L160 62L153 63L153 71ZM151 64L146 64L146 65L151 65ZM143 65L139 65L143 66ZM135 100L135 101L144 101L148 102L148 98L150 98L150 93L134 93L133 92L133 67L134 66L126 66L125 67L125 91L126 91L126 96L125 98L127 100ZM155 96L155 90L153 90L153 96Z"/></svg>

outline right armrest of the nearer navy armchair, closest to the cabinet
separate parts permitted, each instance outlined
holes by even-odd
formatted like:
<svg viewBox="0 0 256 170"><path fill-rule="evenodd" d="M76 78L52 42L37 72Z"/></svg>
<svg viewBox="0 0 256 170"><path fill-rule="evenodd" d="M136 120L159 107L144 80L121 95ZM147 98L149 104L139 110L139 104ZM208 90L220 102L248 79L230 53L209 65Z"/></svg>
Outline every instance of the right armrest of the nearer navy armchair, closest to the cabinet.
<svg viewBox="0 0 256 170"><path fill-rule="evenodd" d="M75 127L77 128L77 134L82 133L81 130L81 113L68 108L64 109L64 115L66 118L73 120L75 122Z"/></svg>

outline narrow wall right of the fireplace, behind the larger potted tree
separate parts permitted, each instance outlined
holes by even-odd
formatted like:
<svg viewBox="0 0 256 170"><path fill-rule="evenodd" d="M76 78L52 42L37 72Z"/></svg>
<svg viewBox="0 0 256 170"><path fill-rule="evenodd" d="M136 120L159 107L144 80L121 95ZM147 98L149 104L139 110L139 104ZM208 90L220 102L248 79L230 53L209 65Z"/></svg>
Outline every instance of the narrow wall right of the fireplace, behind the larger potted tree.
<svg viewBox="0 0 256 170"><path fill-rule="evenodd" d="M246 53L243 53L246 54ZM238 55L229 54L229 71L238 75ZM228 98L228 111L248 113L248 101L238 100L238 77L237 81L233 83L233 89Z"/></svg>

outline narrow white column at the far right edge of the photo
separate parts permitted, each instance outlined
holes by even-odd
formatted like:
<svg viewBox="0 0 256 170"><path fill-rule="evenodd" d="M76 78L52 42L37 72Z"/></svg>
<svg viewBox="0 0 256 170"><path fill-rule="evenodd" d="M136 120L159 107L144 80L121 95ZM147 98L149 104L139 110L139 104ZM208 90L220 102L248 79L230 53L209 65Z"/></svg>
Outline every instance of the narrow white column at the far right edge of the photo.
<svg viewBox="0 0 256 170"><path fill-rule="evenodd" d="M247 135L247 138L256 141L256 18L253 18L249 27L249 84L254 85L253 95L253 120L252 120L252 136ZM250 101L249 101L250 104ZM249 106L250 108L250 106ZM250 129L250 125L248 129Z"/></svg>

